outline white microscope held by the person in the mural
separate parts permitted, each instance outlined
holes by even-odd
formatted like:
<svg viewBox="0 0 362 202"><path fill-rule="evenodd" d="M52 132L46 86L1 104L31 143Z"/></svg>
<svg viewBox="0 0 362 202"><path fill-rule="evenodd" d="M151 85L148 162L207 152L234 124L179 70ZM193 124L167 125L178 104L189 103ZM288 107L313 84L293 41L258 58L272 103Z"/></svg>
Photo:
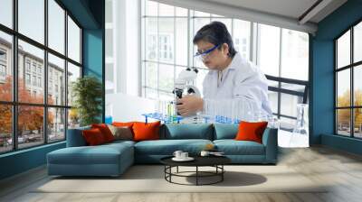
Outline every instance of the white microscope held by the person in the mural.
<svg viewBox="0 0 362 202"><path fill-rule="evenodd" d="M194 86L195 79L197 77L198 70L193 68L187 68L182 70L175 81L175 89L173 93L176 99L181 99L183 96L194 95L201 96L200 91ZM176 104L177 105L177 104ZM179 115L179 113L177 113Z"/></svg>

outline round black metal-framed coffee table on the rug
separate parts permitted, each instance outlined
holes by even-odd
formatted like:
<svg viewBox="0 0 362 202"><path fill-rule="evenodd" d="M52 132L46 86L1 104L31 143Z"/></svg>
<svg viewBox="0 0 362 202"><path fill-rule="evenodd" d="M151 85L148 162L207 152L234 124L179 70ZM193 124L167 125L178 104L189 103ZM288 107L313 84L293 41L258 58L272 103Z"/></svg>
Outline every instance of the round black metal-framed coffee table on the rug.
<svg viewBox="0 0 362 202"><path fill-rule="evenodd" d="M224 180L224 165L231 162L231 160L225 156L195 156L193 157L194 161L173 161L173 156L162 158L160 161L165 165L165 179L174 184L179 185L212 185ZM195 167L195 171L179 171L178 167ZM172 172L172 168L176 167L176 172ZM199 167L214 167L214 171L202 171L199 170ZM195 175L186 175L189 173L195 173ZM172 181L172 177L185 177L185 178L195 178L195 184L183 184ZM200 183L200 178L210 178L218 177L216 180L209 183Z"/></svg>

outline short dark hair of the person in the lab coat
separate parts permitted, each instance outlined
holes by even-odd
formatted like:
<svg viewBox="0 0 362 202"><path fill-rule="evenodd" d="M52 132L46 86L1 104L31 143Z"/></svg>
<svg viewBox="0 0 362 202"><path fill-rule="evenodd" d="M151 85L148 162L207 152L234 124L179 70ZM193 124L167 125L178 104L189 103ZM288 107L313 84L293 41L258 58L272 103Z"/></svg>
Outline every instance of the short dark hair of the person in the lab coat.
<svg viewBox="0 0 362 202"><path fill-rule="evenodd" d="M233 58L236 54L236 50L233 48L233 38L230 33L227 31L227 28L224 23L221 22L211 22L203 26L199 31L196 32L194 37L194 44L198 41L207 41L211 42L214 45L222 45L227 43L229 46L229 57ZM221 49L221 46L218 48Z"/></svg>

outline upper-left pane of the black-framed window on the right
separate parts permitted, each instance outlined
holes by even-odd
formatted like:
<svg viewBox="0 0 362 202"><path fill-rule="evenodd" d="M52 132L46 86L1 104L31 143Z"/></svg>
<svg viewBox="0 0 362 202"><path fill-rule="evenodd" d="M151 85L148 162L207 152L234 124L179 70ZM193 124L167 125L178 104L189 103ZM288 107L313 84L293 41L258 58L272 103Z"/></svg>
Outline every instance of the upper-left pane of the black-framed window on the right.
<svg viewBox="0 0 362 202"><path fill-rule="evenodd" d="M343 34L337 41L337 67L350 64L350 31Z"/></svg>

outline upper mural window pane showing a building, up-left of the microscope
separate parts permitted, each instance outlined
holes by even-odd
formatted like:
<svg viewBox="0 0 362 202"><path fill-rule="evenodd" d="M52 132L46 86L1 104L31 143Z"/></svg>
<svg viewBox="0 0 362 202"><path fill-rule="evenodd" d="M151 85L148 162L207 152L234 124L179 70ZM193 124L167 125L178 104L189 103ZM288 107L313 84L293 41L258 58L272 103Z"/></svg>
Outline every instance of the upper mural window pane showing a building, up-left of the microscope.
<svg viewBox="0 0 362 202"><path fill-rule="evenodd" d="M158 28L158 60L174 63L174 19L159 18Z"/></svg>

